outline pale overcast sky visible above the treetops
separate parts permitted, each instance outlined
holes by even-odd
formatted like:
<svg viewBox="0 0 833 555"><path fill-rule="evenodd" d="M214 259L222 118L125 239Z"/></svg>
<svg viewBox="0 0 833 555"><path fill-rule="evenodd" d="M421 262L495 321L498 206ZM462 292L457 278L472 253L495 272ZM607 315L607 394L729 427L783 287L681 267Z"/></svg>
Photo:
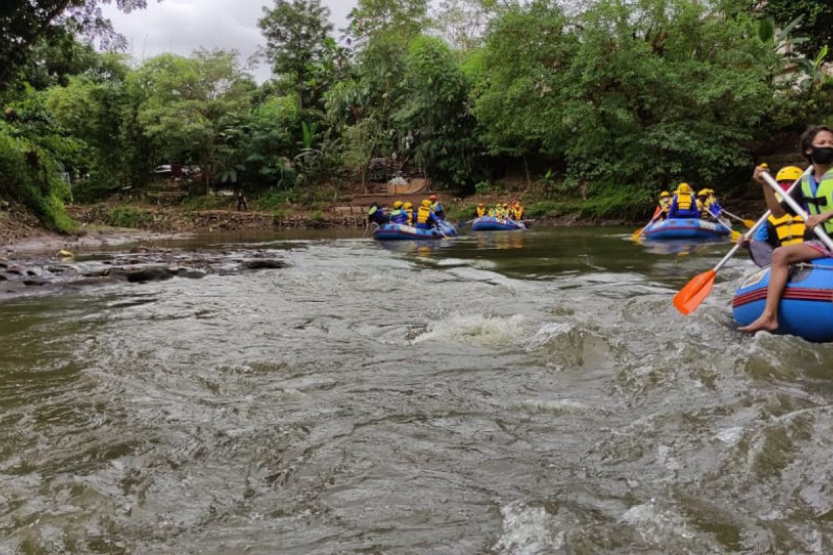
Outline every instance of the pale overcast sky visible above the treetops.
<svg viewBox="0 0 833 555"><path fill-rule="evenodd" d="M339 37L338 29L347 26L347 13L356 0L323 0L322 4L330 8ZM148 0L144 10L122 13L109 5L104 6L104 13L127 38L127 54L137 63L162 52L187 56L197 47L234 48L246 62L263 44L257 27L262 7L272 5L272 0ZM252 73L258 82L271 75L265 66L253 68Z"/></svg>

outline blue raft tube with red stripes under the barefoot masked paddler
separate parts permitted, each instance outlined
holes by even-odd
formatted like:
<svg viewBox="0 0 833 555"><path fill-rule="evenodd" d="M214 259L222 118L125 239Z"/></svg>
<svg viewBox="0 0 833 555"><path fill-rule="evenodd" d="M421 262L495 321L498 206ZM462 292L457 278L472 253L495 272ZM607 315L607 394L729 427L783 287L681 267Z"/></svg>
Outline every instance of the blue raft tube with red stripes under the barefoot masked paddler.
<svg viewBox="0 0 833 555"><path fill-rule="evenodd" d="M732 300L738 325L748 325L764 310L769 267L751 275ZM784 295L778 303L777 334L798 335L808 341L833 341L833 258L813 260L812 264L790 269Z"/></svg>

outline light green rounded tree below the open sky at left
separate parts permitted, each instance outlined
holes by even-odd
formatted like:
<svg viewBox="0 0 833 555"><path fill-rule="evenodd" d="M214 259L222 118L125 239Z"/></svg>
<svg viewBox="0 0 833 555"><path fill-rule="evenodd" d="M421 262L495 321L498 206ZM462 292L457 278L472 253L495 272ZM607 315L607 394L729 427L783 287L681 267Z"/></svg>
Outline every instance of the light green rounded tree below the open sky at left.
<svg viewBox="0 0 833 555"><path fill-rule="evenodd" d="M224 168L226 136L237 135L251 108L252 77L237 52L197 50L192 57L162 54L145 62L129 80L141 99L137 121L161 151L192 159L202 168L206 191Z"/></svg>

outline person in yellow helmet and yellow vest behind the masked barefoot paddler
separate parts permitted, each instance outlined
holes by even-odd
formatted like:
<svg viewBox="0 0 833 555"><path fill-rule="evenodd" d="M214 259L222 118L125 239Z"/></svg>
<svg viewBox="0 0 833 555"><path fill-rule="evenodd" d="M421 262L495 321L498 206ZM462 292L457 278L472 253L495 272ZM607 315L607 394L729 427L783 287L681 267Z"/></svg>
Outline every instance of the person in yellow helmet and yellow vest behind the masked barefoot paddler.
<svg viewBox="0 0 833 555"><path fill-rule="evenodd" d="M781 168L776 175L778 186L787 191L802 173L804 172L801 168L796 166ZM747 246L752 261L761 268L772 263L772 252L778 247L797 245L804 240L804 220L801 216L793 214L789 206L784 210L786 214L780 218L770 215L766 219L766 225L761 225L756 230L752 240L744 240L741 237L741 244Z"/></svg>

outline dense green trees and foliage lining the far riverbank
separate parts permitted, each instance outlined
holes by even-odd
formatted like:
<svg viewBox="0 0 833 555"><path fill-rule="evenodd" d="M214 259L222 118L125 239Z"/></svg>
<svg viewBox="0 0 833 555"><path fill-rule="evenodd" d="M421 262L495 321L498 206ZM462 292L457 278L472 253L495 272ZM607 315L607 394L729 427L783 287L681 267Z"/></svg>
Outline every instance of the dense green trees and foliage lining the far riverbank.
<svg viewBox="0 0 833 555"><path fill-rule="evenodd" d="M381 157L457 193L521 176L547 210L608 215L746 173L763 139L833 113L823 0L359 0L341 42L320 0L274 0L260 85L236 52L96 52L91 33L118 43L102 0L7 3L0 194L61 230L63 201L135 191L160 164L278 211L366 187Z"/></svg>

